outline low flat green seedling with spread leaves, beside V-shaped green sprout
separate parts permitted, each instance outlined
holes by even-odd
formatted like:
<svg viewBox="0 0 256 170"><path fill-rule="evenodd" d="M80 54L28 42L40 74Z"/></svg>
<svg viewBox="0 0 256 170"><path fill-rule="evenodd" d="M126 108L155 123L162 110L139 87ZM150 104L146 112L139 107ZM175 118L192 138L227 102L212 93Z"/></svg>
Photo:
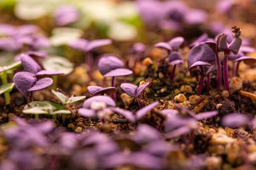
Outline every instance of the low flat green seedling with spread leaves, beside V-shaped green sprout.
<svg viewBox="0 0 256 170"><path fill-rule="evenodd" d="M25 114L34 114L35 119L39 118L39 114L51 114L53 119L57 119L57 114L71 114L69 110L63 110L63 106L50 101L33 101L24 107L22 111ZM64 122L64 121L63 121Z"/></svg>

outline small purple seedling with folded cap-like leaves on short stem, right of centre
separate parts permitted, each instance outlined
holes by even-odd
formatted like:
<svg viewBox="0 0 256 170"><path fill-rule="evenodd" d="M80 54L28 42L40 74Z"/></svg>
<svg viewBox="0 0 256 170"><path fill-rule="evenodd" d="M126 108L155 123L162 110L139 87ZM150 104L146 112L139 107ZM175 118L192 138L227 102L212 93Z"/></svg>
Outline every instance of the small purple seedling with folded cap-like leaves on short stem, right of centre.
<svg viewBox="0 0 256 170"><path fill-rule="evenodd" d="M173 66L173 70L171 71L170 79L171 82L174 82L174 75L175 75L175 70L176 70L176 65L177 64L183 64L184 61L182 61L182 58L178 52L171 52L169 55L169 61L170 65Z"/></svg>

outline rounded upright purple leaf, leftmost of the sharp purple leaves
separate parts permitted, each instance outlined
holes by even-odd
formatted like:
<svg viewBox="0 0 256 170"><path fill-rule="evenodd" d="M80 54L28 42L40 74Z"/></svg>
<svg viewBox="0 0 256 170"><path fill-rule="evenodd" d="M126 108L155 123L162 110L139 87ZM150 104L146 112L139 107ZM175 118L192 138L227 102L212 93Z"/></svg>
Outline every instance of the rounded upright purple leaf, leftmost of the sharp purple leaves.
<svg viewBox="0 0 256 170"><path fill-rule="evenodd" d="M26 98L29 95L28 89L30 89L36 81L36 76L31 72L17 72L13 77L15 86Z"/></svg>

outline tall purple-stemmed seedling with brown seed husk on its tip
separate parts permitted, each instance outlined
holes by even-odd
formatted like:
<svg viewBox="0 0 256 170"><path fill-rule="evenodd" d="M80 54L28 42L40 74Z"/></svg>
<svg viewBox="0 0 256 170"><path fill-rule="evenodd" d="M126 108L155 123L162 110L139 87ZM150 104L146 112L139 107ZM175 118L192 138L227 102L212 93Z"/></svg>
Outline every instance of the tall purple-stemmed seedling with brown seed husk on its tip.
<svg viewBox="0 0 256 170"><path fill-rule="evenodd" d="M224 75L224 86L225 90L229 91L229 83L228 83L228 56L232 52L233 54L237 54L242 45L242 39L240 38L242 31L240 28L233 26L232 27L232 36L233 40L230 44L227 44L227 34L221 34L217 40L217 50L224 52L224 64L223 64L223 75Z"/></svg>

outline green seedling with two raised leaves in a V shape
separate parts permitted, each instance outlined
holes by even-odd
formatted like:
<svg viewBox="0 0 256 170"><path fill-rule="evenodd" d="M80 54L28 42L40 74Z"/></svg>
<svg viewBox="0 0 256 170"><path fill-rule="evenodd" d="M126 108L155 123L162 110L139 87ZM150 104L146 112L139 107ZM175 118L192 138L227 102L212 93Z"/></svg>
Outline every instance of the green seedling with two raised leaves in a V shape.
<svg viewBox="0 0 256 170"><path fill-rule="evenodd" d="M70 103L81 101L81 100L84 100L86 98L86 96L75 96L75 97L68 98L67 96L63 95L61 92L57 92L55 90L51 90L51 92L55 96L57 96L57 98L60 100L63 107L65 107L65 108L68 108L68 104L70 104ZM65 113L59 113L59 114L62 114L63 122L65 122L66 114Z"/></svg>

